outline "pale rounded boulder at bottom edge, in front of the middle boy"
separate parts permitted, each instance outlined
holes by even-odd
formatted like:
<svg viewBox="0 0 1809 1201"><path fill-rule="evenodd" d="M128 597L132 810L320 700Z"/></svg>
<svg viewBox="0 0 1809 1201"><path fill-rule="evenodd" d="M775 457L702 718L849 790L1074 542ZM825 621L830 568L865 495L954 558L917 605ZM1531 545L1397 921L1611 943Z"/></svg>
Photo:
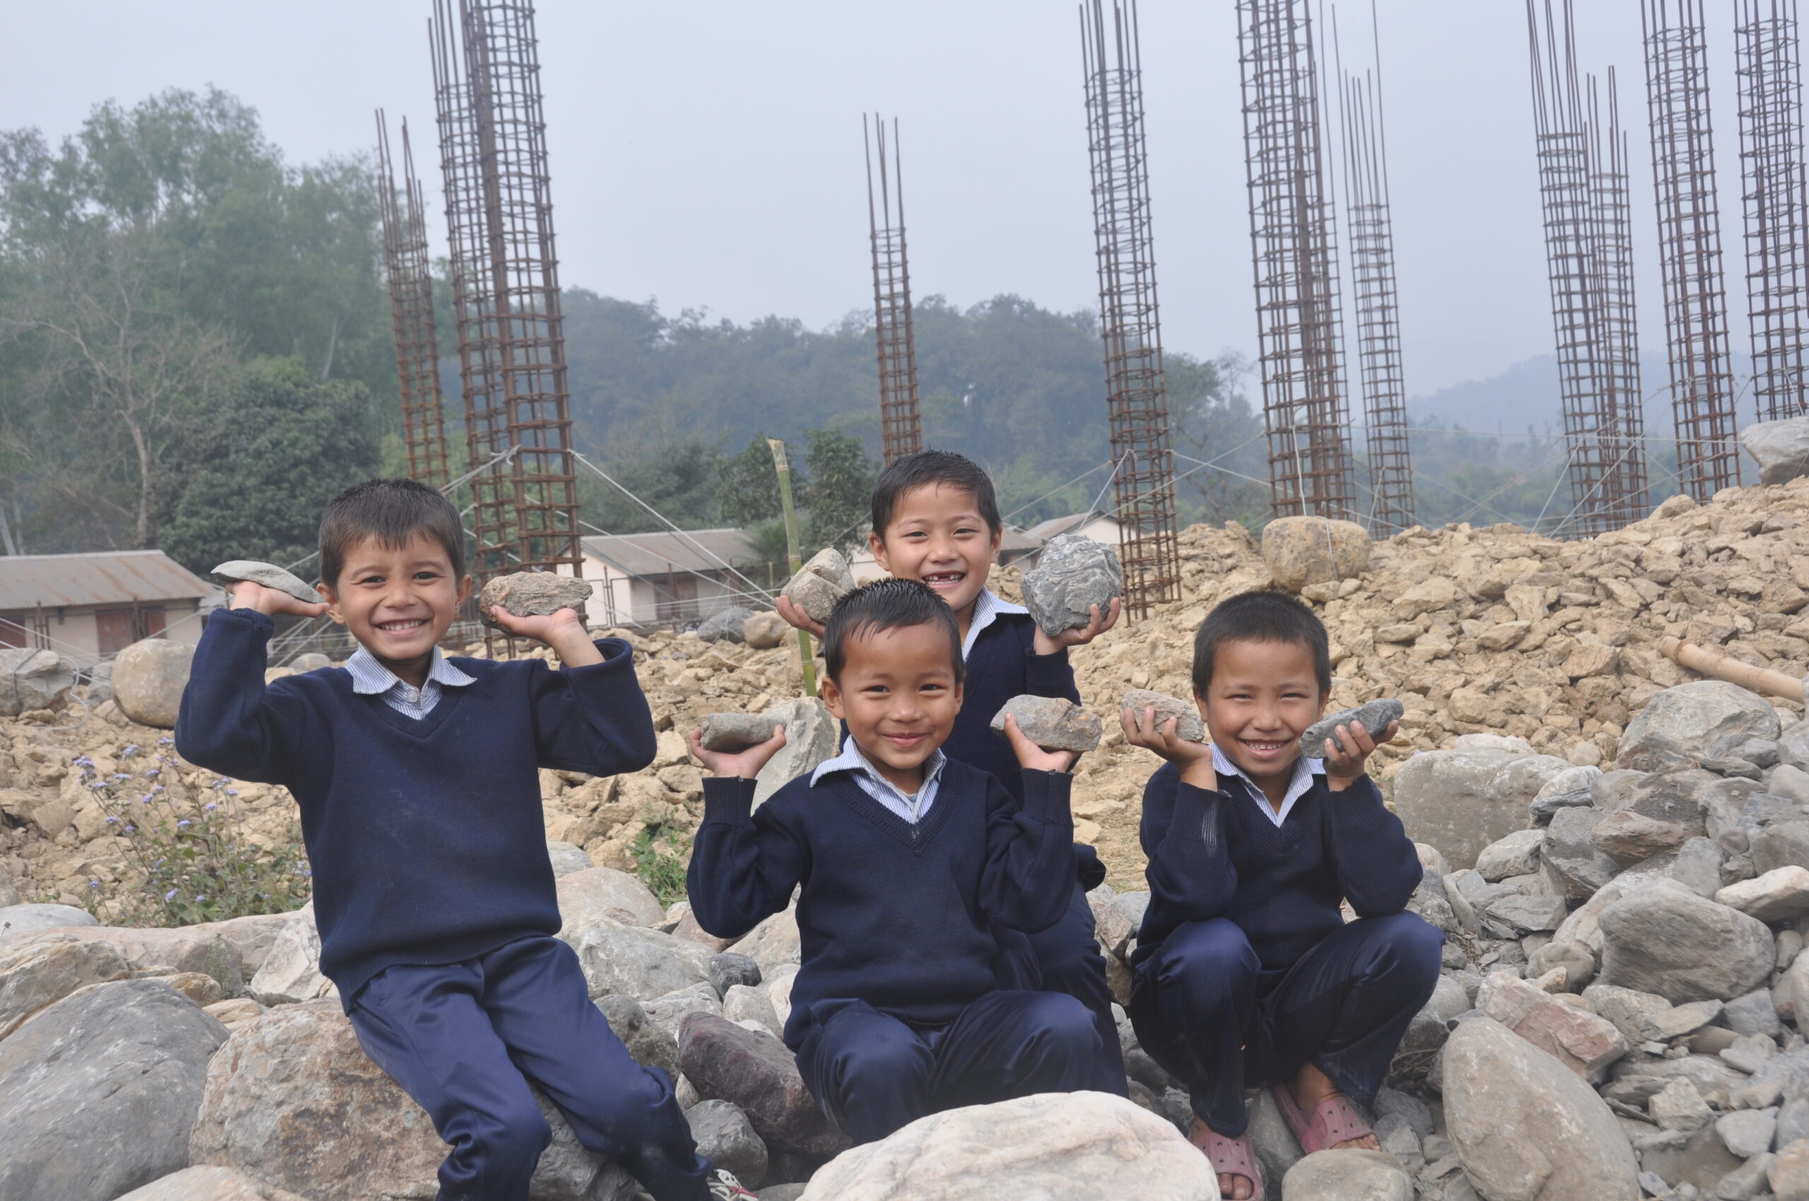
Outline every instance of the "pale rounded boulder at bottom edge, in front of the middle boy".
<svg viewBox="0 0 1809 1201"><path fill-rule="evenodd" d="M800 1201L1217 1201L1212 1165L1167 1121L1107 1092L950 1109L847 1150Z"/></svg>

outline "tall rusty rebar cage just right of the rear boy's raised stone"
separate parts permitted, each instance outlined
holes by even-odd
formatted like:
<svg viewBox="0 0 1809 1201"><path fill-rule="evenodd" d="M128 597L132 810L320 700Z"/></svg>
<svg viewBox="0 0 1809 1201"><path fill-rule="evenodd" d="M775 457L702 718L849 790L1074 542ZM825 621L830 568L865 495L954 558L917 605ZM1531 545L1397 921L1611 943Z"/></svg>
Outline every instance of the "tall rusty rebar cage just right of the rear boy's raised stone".
<svg viewBox="0 0 1809 1201"><path fill-rule="evenodd" d="M1136 0L1080 7L1087 85L1093 232L1111 416L1113 503L1122 530L1125 613L1143 617L1178 600L1181 552L1174 517L1169 391L1161 367L1156 246L1143 141L1143 54Z"/></svg>

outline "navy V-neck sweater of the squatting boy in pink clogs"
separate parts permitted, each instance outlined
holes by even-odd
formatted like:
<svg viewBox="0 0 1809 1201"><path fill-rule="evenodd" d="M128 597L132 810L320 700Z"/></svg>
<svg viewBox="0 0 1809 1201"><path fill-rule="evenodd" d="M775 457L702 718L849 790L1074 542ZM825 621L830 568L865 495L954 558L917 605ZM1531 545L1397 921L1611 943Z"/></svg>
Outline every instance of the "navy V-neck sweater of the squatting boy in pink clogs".
<svg viewBox="0 0 1809 1201"><path fill-rule="evenodd" d="M1357 917L1398 913L1420 883L1420 857L1360 776L1331 792L1317 776L1277 828L1243 780L1219 792L1181 783L1163 763L1143 787L1143 854L1149 910L1136 960L1149 957L1183 922L1228 917L1243 926L1263 971L1292 966L1344 924L1339 901Z"/></svg>

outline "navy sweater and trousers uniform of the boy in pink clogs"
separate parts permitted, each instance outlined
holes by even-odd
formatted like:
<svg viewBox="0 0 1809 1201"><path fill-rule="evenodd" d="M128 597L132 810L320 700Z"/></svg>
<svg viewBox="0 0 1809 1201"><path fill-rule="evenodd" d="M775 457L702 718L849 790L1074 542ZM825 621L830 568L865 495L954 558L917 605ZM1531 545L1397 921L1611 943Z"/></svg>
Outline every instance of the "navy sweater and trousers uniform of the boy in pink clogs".
<svg viewBox="0 0 1809 1201"><path fill-rule="evenodd" d="M1245 1085L1283 1083L1308 1062L1371 1103L1438 982L1444 935L1404 912L1418 854L1368 776L1331 792L1302 760L1277 819L1214 754L1217 792L1181 783L1172 763L1143 789L1151 901L1131 1022L1194 1112L1236 1138Z"/></svg>

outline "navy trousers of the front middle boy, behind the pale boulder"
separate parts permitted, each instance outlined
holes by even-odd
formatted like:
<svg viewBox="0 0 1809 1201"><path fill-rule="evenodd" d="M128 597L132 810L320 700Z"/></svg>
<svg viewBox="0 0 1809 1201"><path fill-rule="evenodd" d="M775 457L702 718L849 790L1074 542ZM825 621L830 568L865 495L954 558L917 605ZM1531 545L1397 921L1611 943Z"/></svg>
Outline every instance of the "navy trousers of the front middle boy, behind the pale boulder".
<svg viewBox="0 0 1809 1201"><path fill-rule="evenodd" d="M933 1029L854 1000L803 1036L798 1071L848 1138L872 1143L944 1109L1087 1089L1098 1038L1062 993L986 993Z"/></svg>

